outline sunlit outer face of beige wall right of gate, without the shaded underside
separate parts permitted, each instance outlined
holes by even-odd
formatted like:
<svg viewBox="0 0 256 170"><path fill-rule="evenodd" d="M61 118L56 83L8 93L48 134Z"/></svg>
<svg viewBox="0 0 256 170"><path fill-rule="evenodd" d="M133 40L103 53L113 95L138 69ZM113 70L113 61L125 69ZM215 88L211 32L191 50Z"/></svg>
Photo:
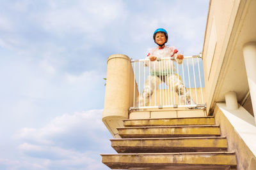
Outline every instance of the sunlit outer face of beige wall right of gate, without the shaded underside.
<svg viewBox="0 0 256 170"><path fill-rule="evenodd" d="M220 74L220 68L225 53L223 48L227 46L230 35L230 17L234 10L235 0L215 0L210 2L205 30L204 49L202 57L204 60L205 89L207 89L206 103L207 111L212 104L212 97L216 89L216 83Z"/></svg>

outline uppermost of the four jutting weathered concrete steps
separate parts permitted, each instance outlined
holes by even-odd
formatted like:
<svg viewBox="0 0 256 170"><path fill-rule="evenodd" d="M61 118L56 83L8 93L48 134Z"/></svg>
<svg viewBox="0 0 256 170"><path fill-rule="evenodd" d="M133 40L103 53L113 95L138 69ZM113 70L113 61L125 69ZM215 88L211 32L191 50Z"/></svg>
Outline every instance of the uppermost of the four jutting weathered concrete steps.
<svg viewBox="0 0 256 170"><path fill-rule="evenodd" d="M164 125L214 125L214 117L125 119L124 127Z"/></svg>

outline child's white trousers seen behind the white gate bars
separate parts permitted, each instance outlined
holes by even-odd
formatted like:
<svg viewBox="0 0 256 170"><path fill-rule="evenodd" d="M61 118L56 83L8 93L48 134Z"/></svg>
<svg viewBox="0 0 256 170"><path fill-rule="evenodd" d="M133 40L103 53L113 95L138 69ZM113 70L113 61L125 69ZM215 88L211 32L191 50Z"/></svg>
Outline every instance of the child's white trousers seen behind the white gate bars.
<svg viewBox="0 0 256 170"><path fill-rule="evenodd" d="M180 80L179 76L177 74L170 74L168 76L148 76L145 82L143 93L139 96L138 102L140 103L140 106L148 106L149 96L153 94L155 85L158 89L160 82L166 83L169 89L174 89L174 91L180 96L180 99L183 103L195 104L193 100L191 100L190 93L188 90L186 90L186 87ZM137 103L137 105L139 105L139 103Z"/></svg>

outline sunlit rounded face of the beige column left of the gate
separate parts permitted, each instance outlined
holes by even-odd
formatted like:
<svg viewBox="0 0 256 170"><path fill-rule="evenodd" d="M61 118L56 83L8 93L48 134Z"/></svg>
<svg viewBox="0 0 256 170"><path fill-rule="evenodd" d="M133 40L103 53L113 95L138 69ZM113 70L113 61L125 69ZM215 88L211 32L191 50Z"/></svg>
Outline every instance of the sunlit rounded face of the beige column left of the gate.
<svg viewBox="0 0 256 170"><path fill-rule="evenodd" d="M128 118L130 96L130 58L123 54L108 57L103 118Z"/></svg>

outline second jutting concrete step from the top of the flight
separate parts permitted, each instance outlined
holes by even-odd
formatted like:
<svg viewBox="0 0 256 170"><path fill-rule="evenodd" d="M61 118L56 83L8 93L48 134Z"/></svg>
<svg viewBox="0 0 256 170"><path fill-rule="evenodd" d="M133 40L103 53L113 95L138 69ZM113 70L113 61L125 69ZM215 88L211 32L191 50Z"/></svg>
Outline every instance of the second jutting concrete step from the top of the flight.
<svg viewBox="0 0 256 170"><path fill-rule="evenodd" d="M172 138L220 136L219 125L177 125L156 127L119 127L121 138Z"/></svg>

